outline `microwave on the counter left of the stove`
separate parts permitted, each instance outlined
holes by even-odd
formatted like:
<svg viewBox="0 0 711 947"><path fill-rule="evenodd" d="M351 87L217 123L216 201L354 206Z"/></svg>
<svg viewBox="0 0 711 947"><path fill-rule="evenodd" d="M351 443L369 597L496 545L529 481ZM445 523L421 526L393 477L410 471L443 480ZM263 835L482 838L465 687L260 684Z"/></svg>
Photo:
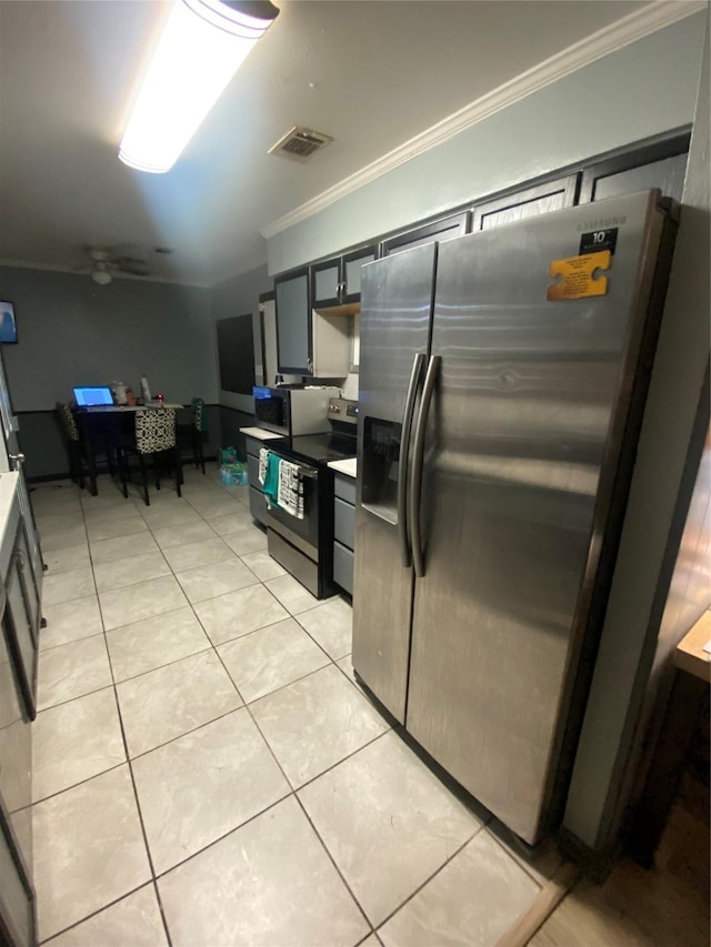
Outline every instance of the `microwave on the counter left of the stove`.
<svg viewBox="0 0 711 947"><path fill-rule="evenodd" d="M323 434L331 430L329 401L340 396L340 389L254 385L252 395L257 426L283 437L293 437L298 434Z"/></svg>

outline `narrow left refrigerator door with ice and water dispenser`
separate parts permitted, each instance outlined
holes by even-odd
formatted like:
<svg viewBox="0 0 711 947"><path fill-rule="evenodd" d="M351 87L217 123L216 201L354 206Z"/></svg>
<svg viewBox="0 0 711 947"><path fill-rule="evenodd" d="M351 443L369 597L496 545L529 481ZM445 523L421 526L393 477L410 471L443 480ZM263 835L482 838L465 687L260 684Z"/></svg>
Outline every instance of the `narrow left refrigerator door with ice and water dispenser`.
<svg viewBox="0 0 711 947"><path fill-rule="evenodd" d="M402 426L413 365L428 351L435 253L430 243L370 263L361 283L353 667L401 723L413 580L402 565L407 504L402 494L398 503L398 484L408 474Z"/></svg>

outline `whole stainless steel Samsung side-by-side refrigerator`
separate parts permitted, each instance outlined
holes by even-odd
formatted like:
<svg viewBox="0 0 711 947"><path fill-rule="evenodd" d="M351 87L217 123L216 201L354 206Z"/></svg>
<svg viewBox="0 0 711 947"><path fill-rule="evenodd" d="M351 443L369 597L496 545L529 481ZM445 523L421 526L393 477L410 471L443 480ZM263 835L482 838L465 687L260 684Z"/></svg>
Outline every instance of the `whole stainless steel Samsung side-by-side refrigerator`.
<svg viewBox="0 0 711 947"><path fill-rule="evenodd" d="M531 844L567 787L673 231L641 192L363 268L353 666Z"/></svg>

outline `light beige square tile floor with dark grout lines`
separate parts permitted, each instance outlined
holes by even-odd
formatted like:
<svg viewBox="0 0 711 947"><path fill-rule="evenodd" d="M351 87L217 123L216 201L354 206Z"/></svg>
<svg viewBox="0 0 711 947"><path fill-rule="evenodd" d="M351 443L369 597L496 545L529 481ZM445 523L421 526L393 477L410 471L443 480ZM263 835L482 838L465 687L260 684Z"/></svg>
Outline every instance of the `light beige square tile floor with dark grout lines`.
<svg viewBox="0 0 711 947"><path fill-rule="evenodd" d="M247 491L32 492L33 724L56 947L493 945L560 859L507 848L356 683L351 609L267 554Z"/></svg>

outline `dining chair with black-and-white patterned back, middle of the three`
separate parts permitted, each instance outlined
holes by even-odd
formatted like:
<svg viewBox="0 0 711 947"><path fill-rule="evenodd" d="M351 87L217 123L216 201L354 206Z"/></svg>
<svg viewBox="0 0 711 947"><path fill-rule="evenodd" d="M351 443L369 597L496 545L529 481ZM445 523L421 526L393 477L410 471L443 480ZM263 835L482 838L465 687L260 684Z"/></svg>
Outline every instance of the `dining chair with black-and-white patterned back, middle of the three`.
<svg viewBox="0 0 711 947"><path fill-rule="evenodd" d="M160 490L160 464L161 461L172 461L176 474L176 486L178 496L181 496L182 466L180 452L176 442L176 412L172 407L144 407L136 412L136 430L132 439L124 439L119 446L119 472L123 496L128 497L128 484L130 470L128 459L130 455L138 457L143 487L143 500L150 506L151 501L148 493L148 462L152 460L156 471L156 488Z"/></svg>

